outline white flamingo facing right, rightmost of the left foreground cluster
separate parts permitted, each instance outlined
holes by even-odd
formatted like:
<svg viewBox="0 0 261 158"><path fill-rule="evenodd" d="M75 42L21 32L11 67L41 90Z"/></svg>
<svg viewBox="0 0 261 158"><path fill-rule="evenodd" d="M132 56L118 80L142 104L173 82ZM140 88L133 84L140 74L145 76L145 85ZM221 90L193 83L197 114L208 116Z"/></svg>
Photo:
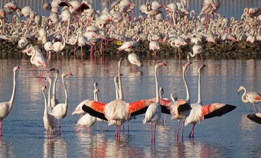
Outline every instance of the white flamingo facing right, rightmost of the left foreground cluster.
<svg viewBox="0 0 261 158"><path fill-rule="evenodd" d="M60 103L54 106L54 109L52 110L51 115L56 117L58 119L58 126L59 126L59 135L60 135L60 119L65 118L67 115L67 110L68 110L68 95L67 95L67 89L65 86L65 77L66 76L73 76L70 72L63 73L62 74L62 80L63 80L63 85L65 87L65 103Z"/></svg>

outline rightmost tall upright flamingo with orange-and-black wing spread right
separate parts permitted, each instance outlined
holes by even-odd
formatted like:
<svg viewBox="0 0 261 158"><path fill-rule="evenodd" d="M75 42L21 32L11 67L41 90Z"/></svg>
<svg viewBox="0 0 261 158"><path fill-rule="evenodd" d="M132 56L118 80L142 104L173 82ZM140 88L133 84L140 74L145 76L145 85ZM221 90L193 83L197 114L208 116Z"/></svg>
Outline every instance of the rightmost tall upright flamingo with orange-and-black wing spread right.
<svg viewBox="0 0 261 158"><path fill-rule="evenodd" d="M195 104L191 104L192 110L190 111L190 115L188 115L185 120L185 126L187 126L188 124L193 124L189 137L194 137L194 126L197 122L201 122L207 118L221 116L236 109L236 106L224 103L213 103L202 106L201 71L203 67L205 67L205 65L201 65L201 67L198 68L198 102L196 102Z"/></svg>

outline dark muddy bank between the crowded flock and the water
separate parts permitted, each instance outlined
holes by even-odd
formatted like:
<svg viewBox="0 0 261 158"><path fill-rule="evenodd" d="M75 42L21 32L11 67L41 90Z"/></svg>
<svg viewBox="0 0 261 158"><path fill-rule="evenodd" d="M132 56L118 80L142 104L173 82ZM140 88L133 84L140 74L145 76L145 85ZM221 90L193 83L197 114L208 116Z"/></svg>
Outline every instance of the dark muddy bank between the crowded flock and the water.
<svg viewBox="0 0 261 158"><path fill-rule="evenodd" d="M30 43L32 45L38 45L42 47L41 43ZM139 54L140 56L153 54L152 51L149 50L149 42L141 42L139 43L139 47L134 50L135 54ZM207 56L251 56L251 55L260 55L261 54L261 43L249 43L249 42L227 42L227 43L202 43L201 46L204 49L203 55ZM104 54L128 54L128 52L120 52L117 48L120 45L117 45L116 42L107 43L104 46ZM73 45L66 45L65 49L61 53L69 56L73 56ZM84 46L83 48L84 54L89 54L89 46ZM12 56L21 56L22 53L19 52L21 49L17 47L17 43L2 41L0 45L0 54L12 55ZM43 50L42 50L43 51ZM186 45L181 47L181 56L186 56L188 52L192 52L192 45ZM96 45L96 54L100 54L100 43ZM157 54L163 55L174 55L178 54L178 49L176 47L171 47L168 43L160 44L160 49L157 50ZM76 51L76 55L80 55L80 47L78 47Z"/></svg>

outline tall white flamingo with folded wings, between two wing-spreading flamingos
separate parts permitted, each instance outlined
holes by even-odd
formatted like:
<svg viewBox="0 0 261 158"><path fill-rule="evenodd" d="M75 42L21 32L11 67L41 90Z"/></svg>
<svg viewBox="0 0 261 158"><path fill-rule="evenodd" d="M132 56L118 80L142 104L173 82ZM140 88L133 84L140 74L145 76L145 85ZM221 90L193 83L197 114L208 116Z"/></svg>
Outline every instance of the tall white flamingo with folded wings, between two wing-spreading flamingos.
<svg viewBox="0 0 261 158"><path fill-rule="evenodd" d="M156 124L161 119L161 106L159 104L159 83L157 78L157 70L159 69L159 67L162 67L163 65L167 66L165 63L158 63L155 65L156 102L148 106L148 109L145 113L145 118L143 120L144 124L150 123L151 143L155 143ZM152 124L155 124L154 134L152 133Z"/></svg>

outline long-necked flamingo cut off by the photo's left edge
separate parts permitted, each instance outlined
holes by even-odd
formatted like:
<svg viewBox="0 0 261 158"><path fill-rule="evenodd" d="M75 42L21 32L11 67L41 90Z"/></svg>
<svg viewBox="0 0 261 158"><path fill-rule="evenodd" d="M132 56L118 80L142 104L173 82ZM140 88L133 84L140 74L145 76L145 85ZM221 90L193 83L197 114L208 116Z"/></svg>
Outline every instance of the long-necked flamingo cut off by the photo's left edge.
<svg viewBox="0 0 261 158"><path fill-rule="evenodd" d="M19 69L19 66L14 67L14 78L13 78L13 89L12 89L12 96L9 102L1 102L0 103L0 137L2 136L2 121L5 119L5 117L8 117L8 114L12 110L12 104L14 102L15 97L15 90L16 90L16 84L15 84L15 74L16 70Z"/></svg>

